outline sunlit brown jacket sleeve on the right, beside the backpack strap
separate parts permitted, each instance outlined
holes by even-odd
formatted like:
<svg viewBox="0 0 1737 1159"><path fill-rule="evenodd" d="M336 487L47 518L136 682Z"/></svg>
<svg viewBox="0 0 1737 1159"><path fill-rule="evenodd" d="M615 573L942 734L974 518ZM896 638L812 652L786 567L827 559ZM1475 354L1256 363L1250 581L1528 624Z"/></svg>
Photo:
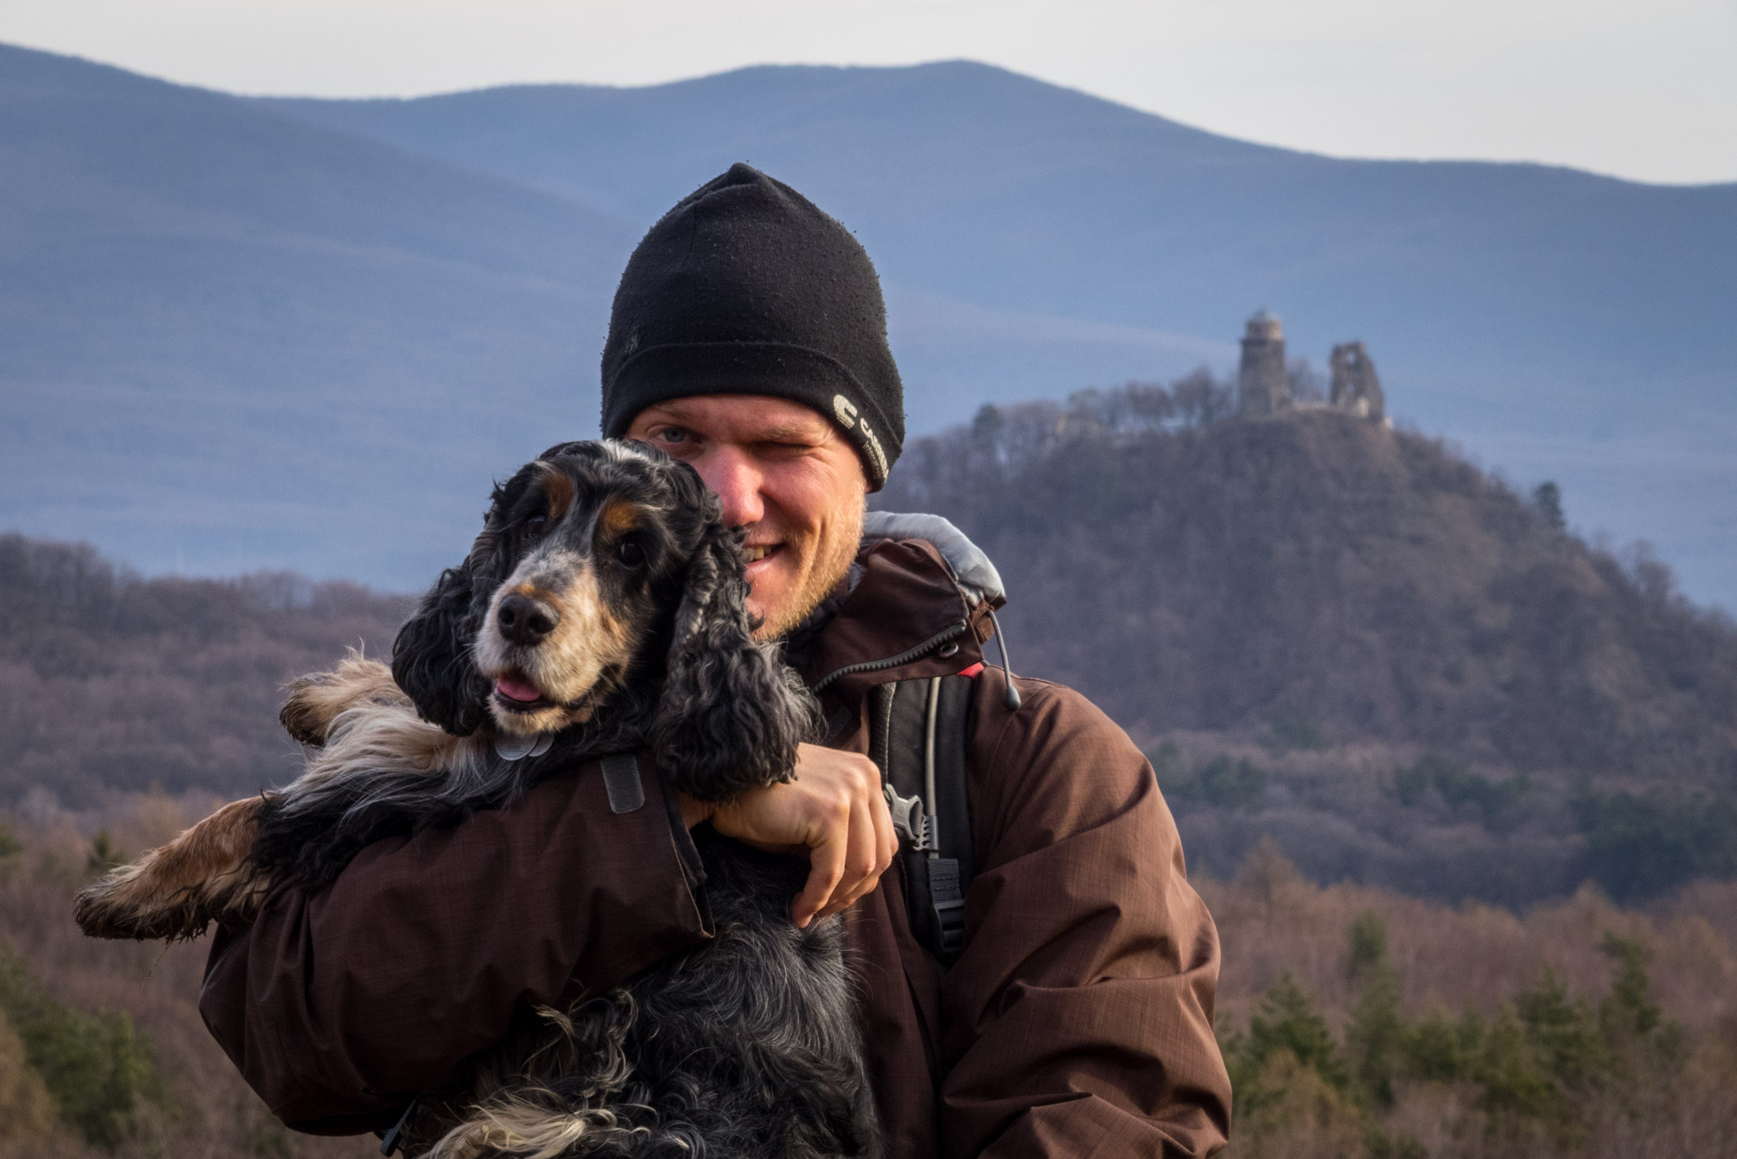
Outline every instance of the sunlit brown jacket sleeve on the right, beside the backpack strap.
<svg viewBox="0 0 1737 1159"><path fill-rule="evenodd" d="M1218 930L1152 766L1084 697L980 681L981 864L943 989L954 1157L1207 1156L1230 1131Z"/></svg>

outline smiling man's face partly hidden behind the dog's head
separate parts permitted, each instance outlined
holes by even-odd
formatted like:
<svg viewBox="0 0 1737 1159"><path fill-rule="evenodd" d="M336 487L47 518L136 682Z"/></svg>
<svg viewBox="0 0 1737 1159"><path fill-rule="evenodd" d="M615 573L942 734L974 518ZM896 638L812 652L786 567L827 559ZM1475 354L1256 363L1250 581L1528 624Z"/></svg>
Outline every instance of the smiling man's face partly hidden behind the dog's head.
<svg viewBox="0 0 1737 1159"><path fill-rule="evenodd" d="M749 610L776 638L830 593L863 530L868 481L856 450L830 419L763 394L709 394L639 412L627 438L693 466L747 528Z"/></svg>

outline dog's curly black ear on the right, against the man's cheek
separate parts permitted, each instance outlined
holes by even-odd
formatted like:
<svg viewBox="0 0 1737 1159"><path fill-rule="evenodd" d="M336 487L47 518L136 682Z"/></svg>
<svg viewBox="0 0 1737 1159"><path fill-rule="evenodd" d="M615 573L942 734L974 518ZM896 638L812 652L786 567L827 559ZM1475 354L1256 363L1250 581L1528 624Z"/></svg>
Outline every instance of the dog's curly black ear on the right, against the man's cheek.
<svg viewBox="0 0 1737 1159"><path fill-rule="evenodd" d="M815 699L773 645L754 639L740 533L712 523L688 563L651 751L683 792L723 801L790 778Z"/></svg>

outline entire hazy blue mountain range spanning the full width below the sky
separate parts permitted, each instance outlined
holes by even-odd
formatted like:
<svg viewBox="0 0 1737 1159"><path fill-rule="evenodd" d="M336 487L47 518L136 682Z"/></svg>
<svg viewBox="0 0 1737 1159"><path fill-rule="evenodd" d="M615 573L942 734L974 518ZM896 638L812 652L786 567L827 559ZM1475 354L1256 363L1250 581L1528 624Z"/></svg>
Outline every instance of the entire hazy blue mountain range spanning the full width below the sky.
<svg viewBox="0 0 1737 1159"><path fill-rule="evenodd" d="M875 257L914 433L1225 370L1268 306L1737 606L1737 186L1331 160L968 63L247 101L0 49L0 525L420 587L594 431L625 254L735 160Z"/></svg>

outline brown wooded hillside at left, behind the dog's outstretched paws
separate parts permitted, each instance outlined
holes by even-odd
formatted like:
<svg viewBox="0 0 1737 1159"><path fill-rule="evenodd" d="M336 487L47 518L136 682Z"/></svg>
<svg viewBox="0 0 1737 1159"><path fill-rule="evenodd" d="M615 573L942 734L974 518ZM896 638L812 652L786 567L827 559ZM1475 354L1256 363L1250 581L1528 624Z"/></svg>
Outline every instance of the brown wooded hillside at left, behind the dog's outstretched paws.
<svg viewBox="0 0 1737 1159"><path fill-rule="evenodd" d="M299 772L283 686L344 648L389 653L406 612L294 575L144 580L87 546L0 535L0 805L281 784Z"/></svg>

